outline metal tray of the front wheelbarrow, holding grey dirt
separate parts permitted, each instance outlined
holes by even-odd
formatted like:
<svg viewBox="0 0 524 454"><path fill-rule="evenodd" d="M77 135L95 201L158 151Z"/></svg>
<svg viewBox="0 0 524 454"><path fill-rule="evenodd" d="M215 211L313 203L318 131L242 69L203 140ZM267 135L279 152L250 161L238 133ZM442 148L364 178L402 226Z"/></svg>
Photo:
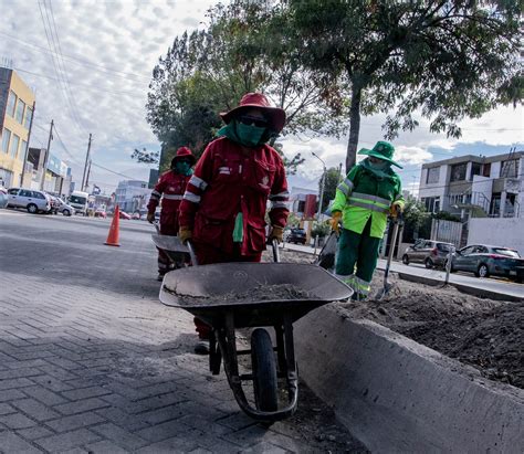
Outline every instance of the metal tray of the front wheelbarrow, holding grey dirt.
<svg viewBox="0 0 524 454"><path fill-rule="evenodd" d="M261 297L261 288L274 285L289 285L300 291L298 296ZM240 328L274 325L284 313L291 313L295 321L324 304L345 300L352 294L350 287L315 265L221 263L167 273L160 300L181 307L214 327L222 325L227 312L232 312L234 326ZM230 295L234 297L229 299Z"/></svg>

